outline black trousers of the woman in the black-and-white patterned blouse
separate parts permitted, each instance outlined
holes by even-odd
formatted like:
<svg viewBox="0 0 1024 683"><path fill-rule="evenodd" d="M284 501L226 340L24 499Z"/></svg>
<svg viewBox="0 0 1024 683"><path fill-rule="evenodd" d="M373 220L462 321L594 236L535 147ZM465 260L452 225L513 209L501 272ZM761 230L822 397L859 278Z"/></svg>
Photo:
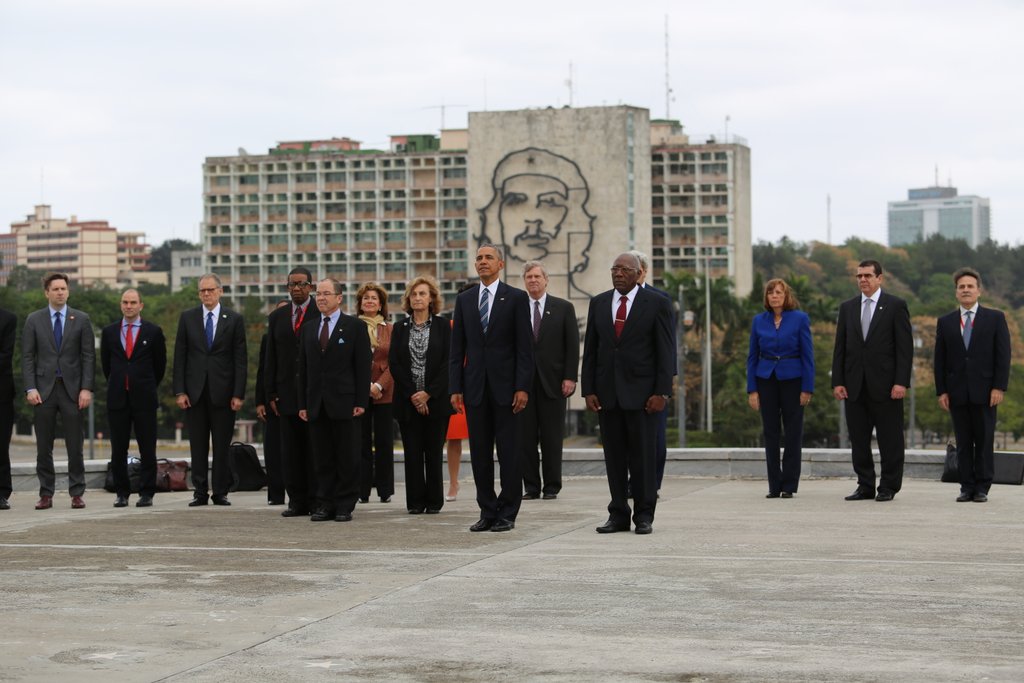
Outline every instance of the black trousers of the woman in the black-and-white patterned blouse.
<svg viewBox="0 0 1024 683"><path fill-rule="evenodd" d="M444 507L441 474L447 416L410 416L399 424L406 452L406 507L409 510L440 510Z"/></svg>

